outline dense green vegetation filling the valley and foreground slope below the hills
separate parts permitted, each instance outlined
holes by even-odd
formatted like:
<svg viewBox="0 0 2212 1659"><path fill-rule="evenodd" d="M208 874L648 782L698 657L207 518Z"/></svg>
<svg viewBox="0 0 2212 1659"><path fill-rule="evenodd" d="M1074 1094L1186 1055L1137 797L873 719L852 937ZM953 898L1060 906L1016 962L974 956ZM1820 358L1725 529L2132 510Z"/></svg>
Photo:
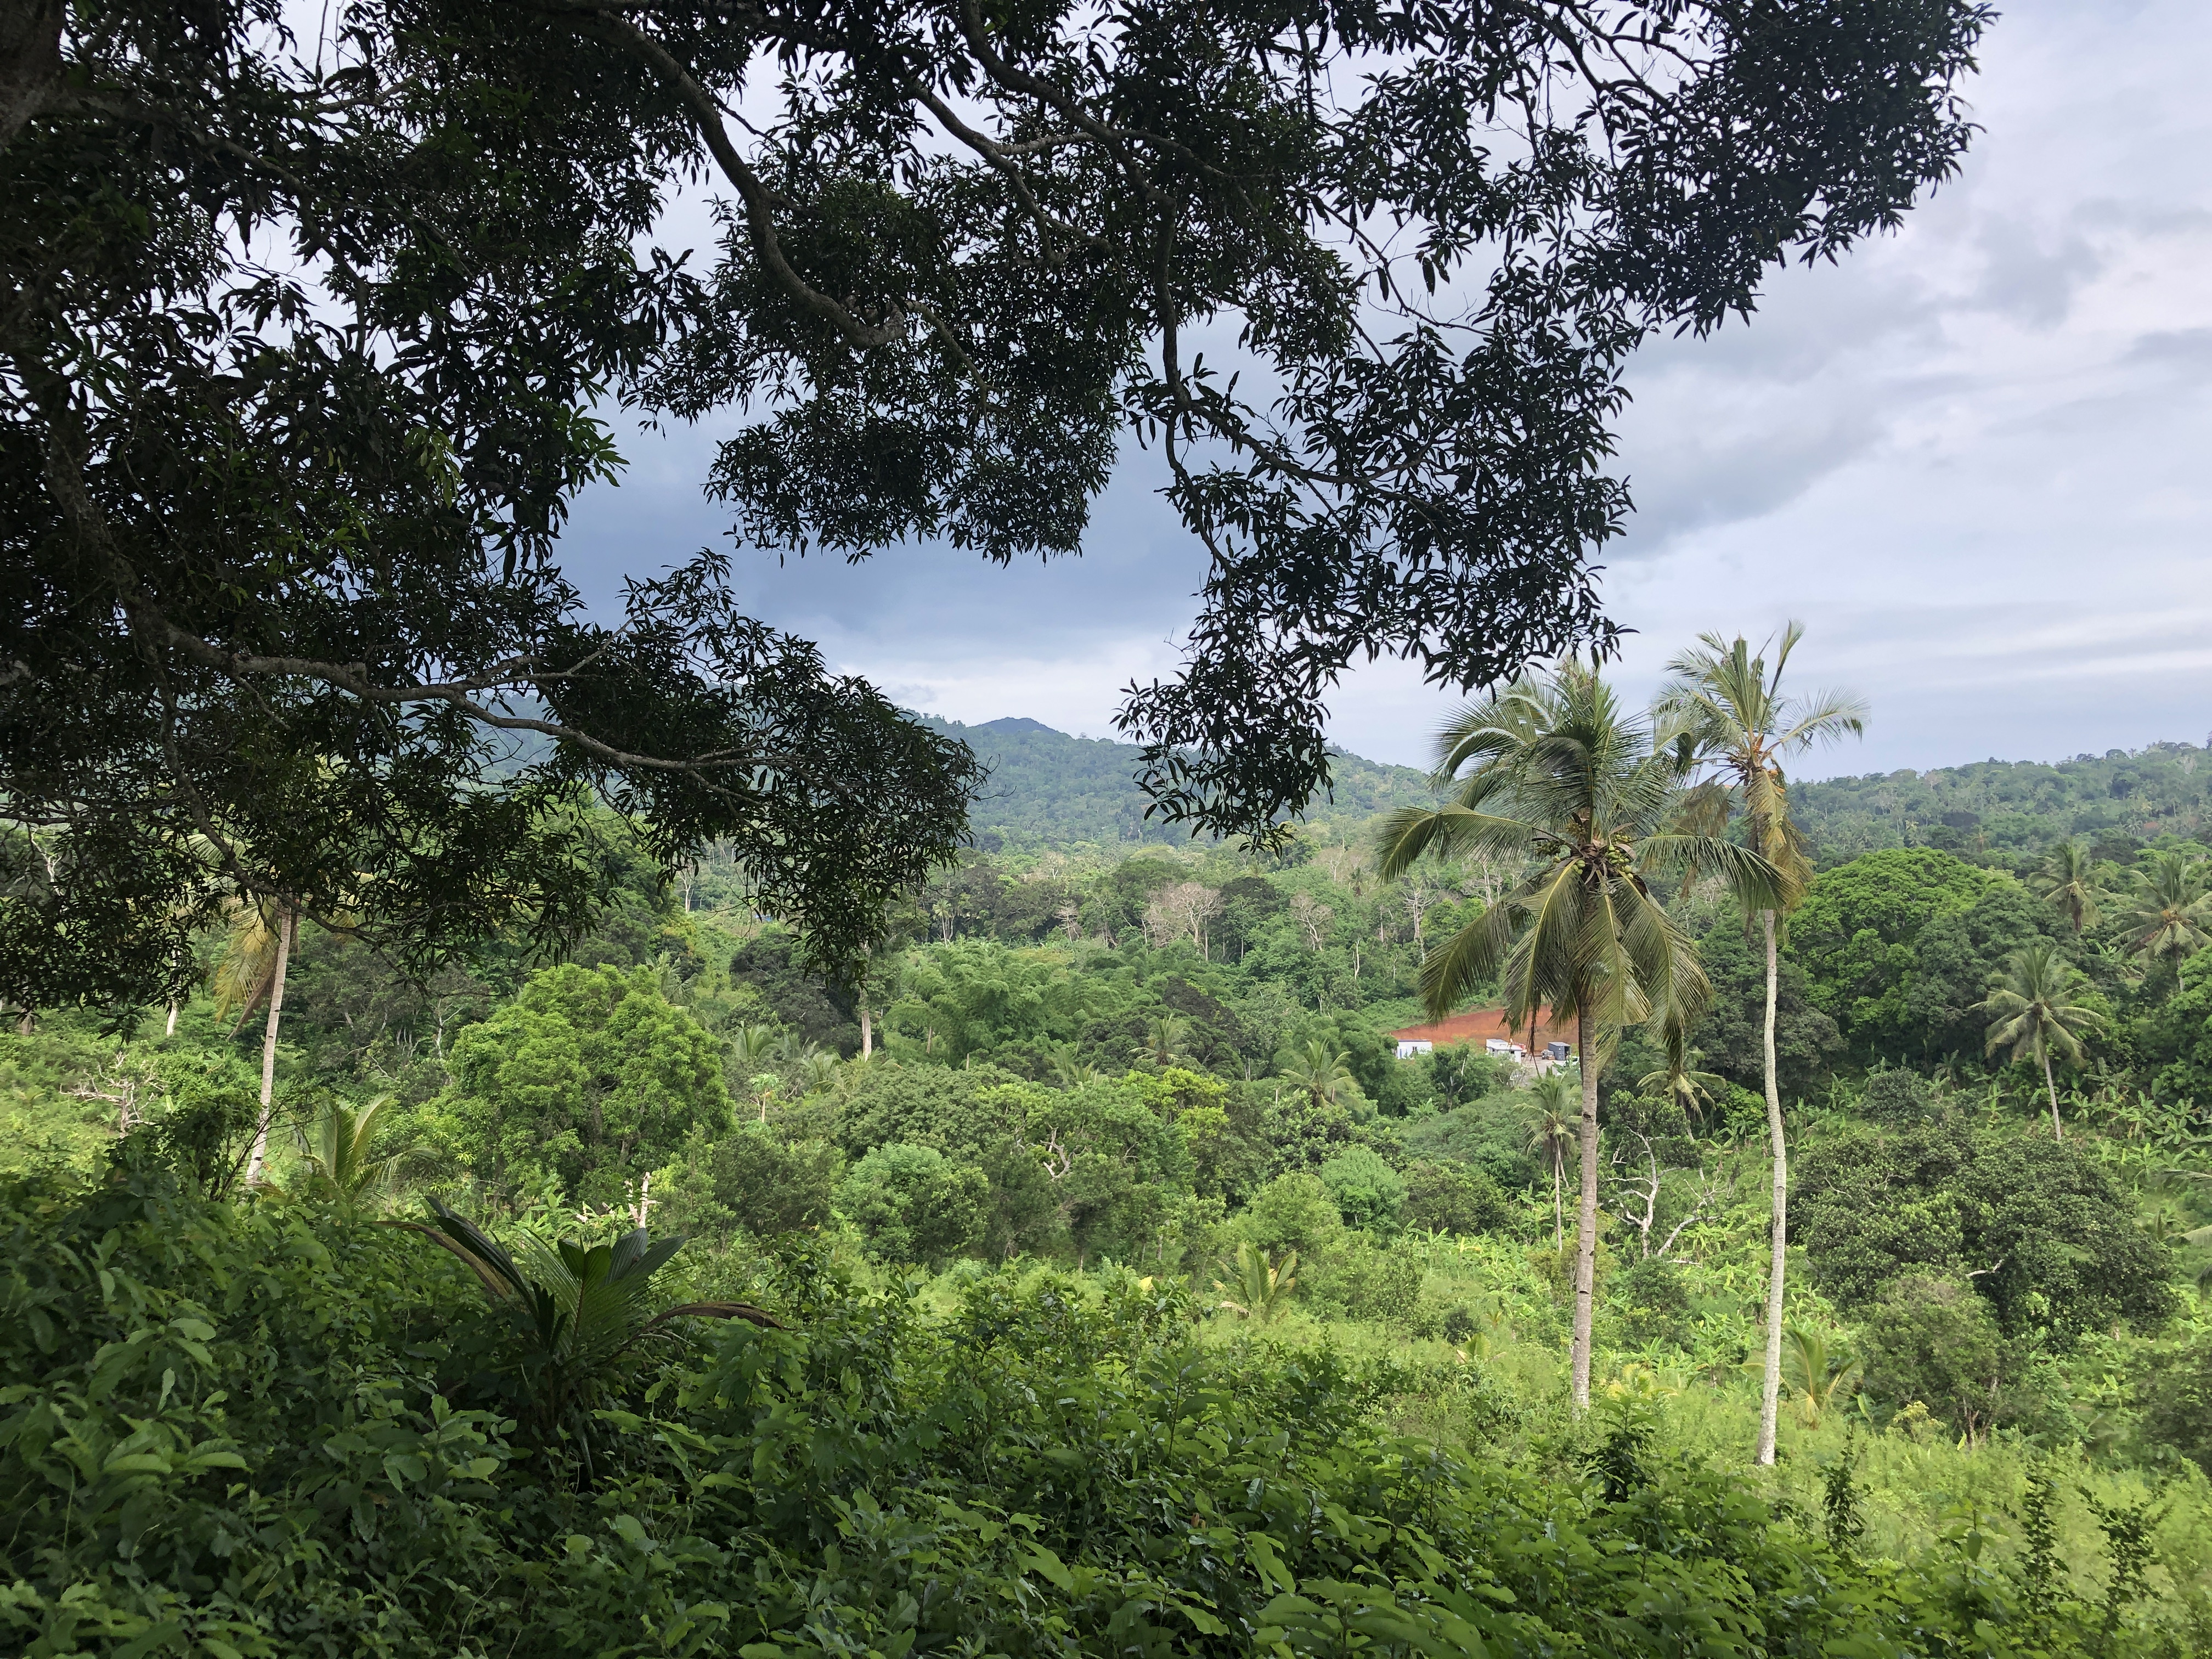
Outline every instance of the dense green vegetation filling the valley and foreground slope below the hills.
<svg viewBox="0 0 2212 1659"><path fill-rule="evenodd" d="M1916 787L1953 776L2004 787ZM44 1540L0 1617L38 1652L2203 1652L2212 849L2033 803L2097 834L2079 894L2048 845L1823 843L1790 920L1763 1484L1763 973L1694 880L1712 1002L1601 1079L1588 1416L1571 1073L1389 1037L1509 863L1380 880L1345 821L973 849L865 984L712 856L633 858L557 962L414 982L307 927L252 1190L241 918L173 1031L0 1037L35 1378L0 1458ZM2093 1013L2064 1139L1978 1006L2037 940ZM462 1250L392 1225L427 1199ZM686 1243L622 1281L639 1221ZM493 1239L518 1283L613 1245L568 1259L571 1347L471 1276Z"/></svg>

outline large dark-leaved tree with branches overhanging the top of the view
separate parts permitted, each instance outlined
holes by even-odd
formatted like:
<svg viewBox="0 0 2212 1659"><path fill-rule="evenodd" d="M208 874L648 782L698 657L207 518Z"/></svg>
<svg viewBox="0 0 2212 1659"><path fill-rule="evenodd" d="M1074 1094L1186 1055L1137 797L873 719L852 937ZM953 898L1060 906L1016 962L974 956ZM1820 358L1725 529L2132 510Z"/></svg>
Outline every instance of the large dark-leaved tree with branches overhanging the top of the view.
<svg viewBox="0 0 2212 1659"><path fill-rule="evenodd" d="M745 617L726 553L588 613L560 533L617 405L730 418L708 489L779 557L1073 553L1144 440L1210 573L1124 726L1168 816L1274 834L1349 664L1464 688L1608 633L1632 352L1949 177L1989 20L294 11L0 11L0 799L69 843L44 880L0 841L0 995L157 1000L226 891L418 960L573 929L591 796L849 960L973 757ZM695 179L717 243L653 246ZM1192 356L1217 325L1259 372Z"/></svg>

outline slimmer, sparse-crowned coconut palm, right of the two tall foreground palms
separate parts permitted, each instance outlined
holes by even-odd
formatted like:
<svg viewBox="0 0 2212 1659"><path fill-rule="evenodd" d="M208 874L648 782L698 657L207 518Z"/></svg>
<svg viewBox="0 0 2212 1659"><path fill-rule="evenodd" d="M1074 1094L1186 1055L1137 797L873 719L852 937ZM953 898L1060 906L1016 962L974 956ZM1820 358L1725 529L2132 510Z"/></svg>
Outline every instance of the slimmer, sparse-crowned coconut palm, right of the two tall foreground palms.
<svg viewBox="0 0 2212 1659"><path fill-rule="evenodd" d="M1774 1462L1774 1433L1783 1387L1783 1272L1790 1261L1790 1146L1783 1133L1783 1095L1774 1073L1776 920L1796 909L1812 865L1805 843L1790 821L1790 783L1783 761L1818 743L1838 743L1867 730L1867 706L1849 692L1785 697L1783 670L1805 630L1790 622L1774 641L1774 666L1765 648L1754 657L1743 635L1699 637L1668 664L1674 675L1661 692L1657 714L1661 741L1677 745L1686 765L1703 772L1701 805L1723 803L1743 821L1745 843L1781 874L1776 902L1756 909L1767 945L1765 1084L1767 1141L1774 1155L1774 1212L1767 1239L1767 1365L1759 1405L1759 1462Z"/></svg>

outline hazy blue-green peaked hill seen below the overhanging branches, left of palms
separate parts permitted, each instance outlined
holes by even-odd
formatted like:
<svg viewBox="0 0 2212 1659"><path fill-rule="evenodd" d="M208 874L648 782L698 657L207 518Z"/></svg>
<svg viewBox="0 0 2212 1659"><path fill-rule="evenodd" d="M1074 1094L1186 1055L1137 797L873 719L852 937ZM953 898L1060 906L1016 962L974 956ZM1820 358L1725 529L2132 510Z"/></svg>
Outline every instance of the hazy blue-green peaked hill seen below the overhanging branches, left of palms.
<svg viewBox="0 0 2212 1659"><path fill-rule="evenodd" d="M1188 841L1183 830L1144 816L1137 787L1144 750L1104 737L1068 737L1033 719L982 726L922 717L940 732L964 739L991 768L971 825L984 852L1073 845L1130 845ZM1358 823L1389 807L1427 803L1425 776L1411 765L1378 765L1356 754L1336 757L1336 799L1318 801L1316 823Z"/></svg>

